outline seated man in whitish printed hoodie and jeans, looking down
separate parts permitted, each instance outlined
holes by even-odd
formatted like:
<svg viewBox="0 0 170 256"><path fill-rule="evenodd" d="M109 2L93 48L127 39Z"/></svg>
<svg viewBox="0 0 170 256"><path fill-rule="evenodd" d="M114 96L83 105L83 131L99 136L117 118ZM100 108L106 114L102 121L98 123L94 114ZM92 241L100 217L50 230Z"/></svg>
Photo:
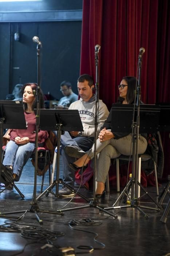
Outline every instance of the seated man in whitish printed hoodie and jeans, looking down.
<svg viewBox="0 0 170 256"><path fill-rule="evenodd" d="M93 94L94 84L90 75L84 74L78 78L78 92L80 99L73 102L69 109L78 109L82 120L83 132L65 132L61 135L62 160L63 160L63 181L74 188L75 172L69 167L69 163L74 162L75 158L81 157L84 152L89 150L93 144L95 136L95 95ZM109 112L107 106L99 100L98 104L98 127L97 136L100 128L104 124ZM59 190L60 196L72 196L74 192L63 187Z"/></svg>

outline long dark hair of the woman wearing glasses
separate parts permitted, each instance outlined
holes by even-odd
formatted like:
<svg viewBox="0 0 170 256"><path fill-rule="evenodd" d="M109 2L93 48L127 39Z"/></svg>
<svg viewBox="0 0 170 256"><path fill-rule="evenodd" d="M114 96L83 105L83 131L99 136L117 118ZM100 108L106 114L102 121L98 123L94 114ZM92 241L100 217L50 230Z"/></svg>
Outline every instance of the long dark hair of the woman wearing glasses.
<svg viewBox="0 0 170 256"><path fill-rule="evenodd" d="M126 100L128 104L131 104L134 99L135 99L135 89L136 89L136 83L137 83L137 78L135 76L124 76L122 80L125 80L127 82L127 95L126 95ZM124 98L119 97L118 101L122 102Z"/></svg>

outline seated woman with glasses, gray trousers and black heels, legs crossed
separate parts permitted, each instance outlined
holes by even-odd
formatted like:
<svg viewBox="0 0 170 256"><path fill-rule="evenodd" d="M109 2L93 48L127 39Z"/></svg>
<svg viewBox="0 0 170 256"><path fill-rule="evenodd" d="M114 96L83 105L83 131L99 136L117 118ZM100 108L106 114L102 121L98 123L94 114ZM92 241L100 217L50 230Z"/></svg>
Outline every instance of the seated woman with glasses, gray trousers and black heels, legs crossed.
<svg viewBox="0 0 170 256"><path fill-rule="evenodd" d="M133 76L125 76L122 78L119 84L119 104L131 104L134 103L135 88L137 79ZM121 116L120 116L121 118ZM97 177L96 181L96 197L104 195L104 184L106 182L107 173L110 168L110 159L117 158L121 154L131 155L132 135L131 133L124 132L111 132L111 112L108 115L107 120L104 122L103 127L100 130L97 143L96 143L96 154L98 157ZM147 139L145 136L139 135L138 141L138 154L143 154L147 148ZM87 151L81 158L74 163L70 163L70 167L73 170L78 170L82 166L84 169L87 168L88 162L94 158L94 146L90 151Z"/></svg>

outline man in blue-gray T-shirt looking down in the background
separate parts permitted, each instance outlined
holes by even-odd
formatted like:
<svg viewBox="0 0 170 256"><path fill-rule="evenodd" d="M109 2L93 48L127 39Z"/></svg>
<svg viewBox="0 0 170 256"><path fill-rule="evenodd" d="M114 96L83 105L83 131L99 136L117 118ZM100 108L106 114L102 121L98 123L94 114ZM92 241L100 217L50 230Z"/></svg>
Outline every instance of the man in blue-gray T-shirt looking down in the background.
<svg viewBox="0 0 170 256"><path fill-rule="evenodd" d="M78 100L78 95L72 91L71 83L68 81L63 81L60 84L60 91L64 97L59 100L58 106L55 106L55 109L68 109L71 103Z"/></svg>

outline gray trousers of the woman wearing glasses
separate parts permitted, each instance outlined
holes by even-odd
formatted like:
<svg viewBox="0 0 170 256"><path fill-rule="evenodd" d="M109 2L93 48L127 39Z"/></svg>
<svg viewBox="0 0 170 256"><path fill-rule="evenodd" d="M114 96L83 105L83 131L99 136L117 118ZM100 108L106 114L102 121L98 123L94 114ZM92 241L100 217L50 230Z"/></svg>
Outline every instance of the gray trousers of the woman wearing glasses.
<svg viewBox="0 0 170 256"><path fill-rule="evenodd" d="M133 144L131 142L131 134L120 139L111 139L104 142L100 142L99 139L97 139L96 154L99 155L97 161L96 181L103 183L106 182L111 158L117 158L122 154L132 155ZM143 154L146 151L146 148L147 140L143 136L139 135L138 154ZM86 153L89 154L89 157L92 159L94 157L94 146Z"/></svg>

